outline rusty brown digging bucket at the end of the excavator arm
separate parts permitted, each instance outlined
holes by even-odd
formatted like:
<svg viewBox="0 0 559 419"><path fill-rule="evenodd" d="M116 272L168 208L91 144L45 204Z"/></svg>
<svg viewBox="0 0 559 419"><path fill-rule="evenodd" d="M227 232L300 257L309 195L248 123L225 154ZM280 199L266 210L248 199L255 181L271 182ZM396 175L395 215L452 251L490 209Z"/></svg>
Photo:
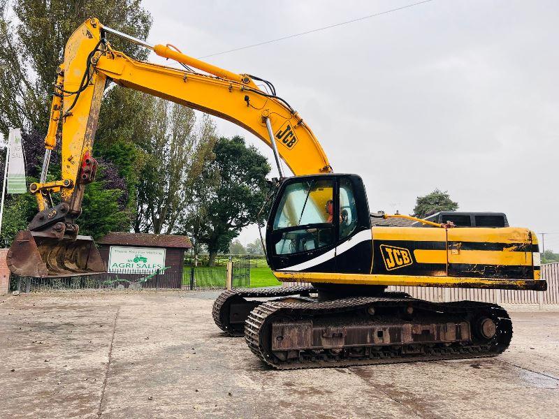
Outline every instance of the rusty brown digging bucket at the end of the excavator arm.
<svg viewBox="0 0 559 419"><path fill-rule="evenodd" d="M92 237L52 237L24 230L8 251L10 271L22 277L74 277L106 272Z"/></svg>

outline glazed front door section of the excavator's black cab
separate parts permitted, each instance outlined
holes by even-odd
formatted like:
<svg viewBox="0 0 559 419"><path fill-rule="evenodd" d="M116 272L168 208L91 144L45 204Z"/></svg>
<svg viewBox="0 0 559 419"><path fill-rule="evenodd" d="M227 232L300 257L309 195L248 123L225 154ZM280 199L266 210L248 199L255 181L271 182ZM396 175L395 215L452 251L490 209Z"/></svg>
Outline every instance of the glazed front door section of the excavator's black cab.
<svg viewBox="0 0 559 419"><path fill-rule="evenodd" d="M284 180L266 226L266 253L273 270L335 272L336 188L335 175Z"/></svg>

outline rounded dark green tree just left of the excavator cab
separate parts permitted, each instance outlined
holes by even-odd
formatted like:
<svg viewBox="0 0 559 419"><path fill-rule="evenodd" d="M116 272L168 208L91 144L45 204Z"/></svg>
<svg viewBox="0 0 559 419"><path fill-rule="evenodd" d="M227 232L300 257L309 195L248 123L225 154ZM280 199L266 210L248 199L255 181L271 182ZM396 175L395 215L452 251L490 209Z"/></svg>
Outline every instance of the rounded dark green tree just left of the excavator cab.
<svg viewBox="0 0 559 419"><path fill-rule="evenodd" d="M199 244L206 244L210 266L217 252L226 252L231 240L250 224L263 221L259 212L266 200L266 175L270 165L256 147L239 136L220 138L215 160L207 161L195 185L193 205L184 230Z"/></svg>

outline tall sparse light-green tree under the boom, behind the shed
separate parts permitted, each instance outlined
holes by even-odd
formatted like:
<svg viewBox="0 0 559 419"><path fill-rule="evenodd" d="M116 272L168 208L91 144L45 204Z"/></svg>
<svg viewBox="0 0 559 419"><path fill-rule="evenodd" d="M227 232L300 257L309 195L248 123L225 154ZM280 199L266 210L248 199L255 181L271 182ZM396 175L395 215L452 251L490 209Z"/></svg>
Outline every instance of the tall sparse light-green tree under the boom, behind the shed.
<svg viewBox="0 0 559 419"><path fill-rule="evenodd" d="M134 229L166 233L176 230L192 200L193 185L205 161L213 158L217 137L208 115L196 123L196 113L177 103L157 98L147 121L150 140L144 145L145 166L138 183Z"/></svg>

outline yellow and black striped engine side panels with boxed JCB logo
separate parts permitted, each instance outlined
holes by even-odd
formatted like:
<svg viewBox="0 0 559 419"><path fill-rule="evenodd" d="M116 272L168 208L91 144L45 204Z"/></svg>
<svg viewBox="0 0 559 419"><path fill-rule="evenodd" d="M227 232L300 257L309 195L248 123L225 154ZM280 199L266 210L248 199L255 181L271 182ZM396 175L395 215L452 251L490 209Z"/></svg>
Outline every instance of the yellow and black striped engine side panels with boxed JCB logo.
<svg viewBox="0 0 559 419"><path fill-rule="evenodd" d="M373 227L372 273L535 279L534 236L525 228Z"/></svg>

